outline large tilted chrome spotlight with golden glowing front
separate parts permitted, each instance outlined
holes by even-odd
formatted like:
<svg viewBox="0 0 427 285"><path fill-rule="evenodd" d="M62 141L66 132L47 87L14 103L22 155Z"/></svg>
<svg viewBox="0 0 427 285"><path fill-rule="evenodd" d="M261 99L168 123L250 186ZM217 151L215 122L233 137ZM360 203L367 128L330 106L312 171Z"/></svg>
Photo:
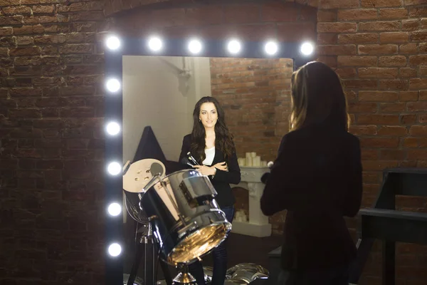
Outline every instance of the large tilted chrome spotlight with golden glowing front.
<svg viewBox="0 0 427 285"><path fill-rule="evenodd" d="M154 176L139 206L152 223L160 257L169 264L190 264L226 239L231 223L216 204L209 178L196 170Z"/></svg>

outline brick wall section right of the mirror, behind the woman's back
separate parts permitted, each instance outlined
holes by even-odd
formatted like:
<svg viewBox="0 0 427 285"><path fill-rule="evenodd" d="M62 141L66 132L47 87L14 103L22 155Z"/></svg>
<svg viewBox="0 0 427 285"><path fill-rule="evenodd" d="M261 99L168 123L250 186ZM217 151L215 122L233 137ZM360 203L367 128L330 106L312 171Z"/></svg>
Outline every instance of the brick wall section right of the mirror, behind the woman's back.
<svg viewBox="0 0 427 285"><path fill-rule="evenodd" d="M362 142L363 207L374 202L385 167L427 166L427 5L421 4L320 1L317 51L344 80L351 132ZM398 197L396 204L427 212L427 199ZM361 284L380 284L380 249L376 244ZM426 256L427 247L397 244L396 284L425 283Z"/></svg>

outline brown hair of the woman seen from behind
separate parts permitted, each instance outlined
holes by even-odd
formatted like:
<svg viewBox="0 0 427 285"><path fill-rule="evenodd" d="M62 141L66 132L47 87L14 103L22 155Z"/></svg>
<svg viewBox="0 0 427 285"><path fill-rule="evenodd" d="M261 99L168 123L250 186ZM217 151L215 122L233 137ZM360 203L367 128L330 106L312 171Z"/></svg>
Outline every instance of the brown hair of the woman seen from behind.
<svg viewBox="0 0 427 285"><path fill-rule="evenodd" d="M312 61L292 74L289 129L329 125L347 131L347 99L337 73L325 63Z"/></svg>

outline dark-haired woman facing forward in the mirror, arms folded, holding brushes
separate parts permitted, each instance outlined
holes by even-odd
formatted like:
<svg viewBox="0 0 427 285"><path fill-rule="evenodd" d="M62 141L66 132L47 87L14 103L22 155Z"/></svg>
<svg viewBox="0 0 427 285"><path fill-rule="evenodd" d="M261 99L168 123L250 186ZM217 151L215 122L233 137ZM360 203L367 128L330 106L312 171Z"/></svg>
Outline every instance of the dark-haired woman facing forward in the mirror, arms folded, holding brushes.
<svg viewBox="0 0 427 285"><path fill-rule="evenodd" d="M194 166L202 175L211 180L218 195L215 197L218 206L226 214L228 222L233 222L234 203L236 202L230 184L241 181L236 147L233 136L228 132L224 111L218 100L203 97L196 103L193 111L193 130L184 136L179 161L186 157L187 152L197 160ZM212 285L223 285L227 271L226 242L222 242L213 251L214 271ZM190 273L199 285L205 284L201 262L189 265Z"/></svg>

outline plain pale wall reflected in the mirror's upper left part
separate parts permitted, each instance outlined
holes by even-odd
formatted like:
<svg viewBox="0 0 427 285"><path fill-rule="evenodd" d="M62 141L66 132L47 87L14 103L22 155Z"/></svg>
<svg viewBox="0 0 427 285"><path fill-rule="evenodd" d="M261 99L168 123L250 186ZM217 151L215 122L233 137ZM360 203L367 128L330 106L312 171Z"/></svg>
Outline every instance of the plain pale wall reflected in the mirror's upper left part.
<svg viewBox="0 0 427 285"><path fill-rule="evenodd" d="M179 69L189 71L189 77ZM133 160L142 130L154 131L167 160L178 161L193 127L194 105L211 95L209 58L123 56L123 162Z"/></svg>

